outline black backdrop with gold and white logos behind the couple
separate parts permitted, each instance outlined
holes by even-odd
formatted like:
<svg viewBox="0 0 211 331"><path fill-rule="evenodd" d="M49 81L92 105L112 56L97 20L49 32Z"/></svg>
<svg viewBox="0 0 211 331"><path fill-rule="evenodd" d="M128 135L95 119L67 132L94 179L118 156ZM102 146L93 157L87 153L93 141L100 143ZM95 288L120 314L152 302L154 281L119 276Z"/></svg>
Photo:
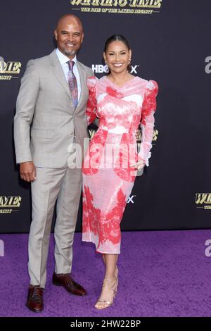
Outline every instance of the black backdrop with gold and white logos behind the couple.
<svg viewBox="0 0 211 331"><path fill-rule="evenodd" d="M82 20L78 58L97 77L105 75L104 43L117 33L132 47L132 74L160 88L150 165L136 178L122 230L211 228L210 12L210 0L2 1L1 233L30 229L30 185L15 165L15 101L27 61L56 47L53 30L64 13Z"/></svg>

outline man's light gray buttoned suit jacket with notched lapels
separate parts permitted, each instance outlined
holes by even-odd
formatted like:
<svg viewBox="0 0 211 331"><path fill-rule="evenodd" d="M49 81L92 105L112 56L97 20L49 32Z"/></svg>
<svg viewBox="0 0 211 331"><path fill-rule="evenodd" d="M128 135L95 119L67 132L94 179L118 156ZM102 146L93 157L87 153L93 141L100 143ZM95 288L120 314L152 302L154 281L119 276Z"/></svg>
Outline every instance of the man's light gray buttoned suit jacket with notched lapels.
<svg viewBox="0 0 211 331"><path fill-rule="evenodd" d="M77 67L82 91L75 109L56 50L27 63L14 118L17 163L33 161L37 167L63 167L70 155L68 146L74 130L76 142L83 147L88 137L87 78L93 72L79 61Z"/></svg>

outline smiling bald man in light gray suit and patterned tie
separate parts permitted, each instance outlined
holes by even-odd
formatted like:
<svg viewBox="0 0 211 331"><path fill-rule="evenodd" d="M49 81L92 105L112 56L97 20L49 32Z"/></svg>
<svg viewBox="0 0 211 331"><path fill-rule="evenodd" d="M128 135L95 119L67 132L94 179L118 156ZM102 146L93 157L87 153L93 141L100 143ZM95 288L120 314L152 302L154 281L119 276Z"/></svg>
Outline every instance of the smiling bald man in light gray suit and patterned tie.
<svg viewBox="0 0 211 331"><path fill-rule="evenodd" d="M56 268L53 284L76 295L87 294L70 276L72 244L82 188L82 169L68 167L70 146L87 138L87 78L90 68L76 58L84 37L75 15L64 15L55 30L58 48L27 63L14 119L16 161L20 177L32 185L29 237L30 287L27 308L43 309L46 262L53 208L57 199ZM76 145L75 144L75 145Z"/></svg>

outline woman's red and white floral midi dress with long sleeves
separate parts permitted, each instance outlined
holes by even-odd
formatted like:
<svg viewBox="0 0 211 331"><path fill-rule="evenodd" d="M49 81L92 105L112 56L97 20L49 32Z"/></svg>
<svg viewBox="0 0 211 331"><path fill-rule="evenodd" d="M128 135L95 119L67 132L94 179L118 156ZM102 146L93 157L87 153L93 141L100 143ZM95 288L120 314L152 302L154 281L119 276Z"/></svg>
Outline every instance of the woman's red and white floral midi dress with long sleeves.
<svg viewBox="0 0 211 331"><path fill-rule="evenodd" d="M134 77L118 87L106 76L90 77L87 85L87 120L97 117L99 123L82 168L82 240L93 242L100 253L120 254L120 222L136 177L132 165L142 159L148 166L151 157L158 85Z"/></svg>

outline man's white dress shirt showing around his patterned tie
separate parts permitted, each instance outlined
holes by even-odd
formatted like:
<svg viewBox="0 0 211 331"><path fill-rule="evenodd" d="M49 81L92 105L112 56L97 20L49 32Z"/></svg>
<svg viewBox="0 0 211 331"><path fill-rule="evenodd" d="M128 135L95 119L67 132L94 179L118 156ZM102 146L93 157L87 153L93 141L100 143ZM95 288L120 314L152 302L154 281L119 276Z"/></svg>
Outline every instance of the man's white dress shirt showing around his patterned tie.
<svg viewBox="0 0 211 331"><path fill-rule="evenodd" d="M60 65L63 68L63 72L65 74L65 78L68 82L68 71L69 71L69 65L68 65L68 61L70 61L70 58L68 58L68 56L65 56L59 49L56 49L56 55L58 56L58 61L60 62ZM75 78L77 80L77 99L79 100L80 94L81 94L81 81L80 81L80 77L79 77L79 71L77 68L77 58L75 56L75 58L72 58L72 61L75 62L75 65L73 65L73 73L75 75Z"/></svg>

